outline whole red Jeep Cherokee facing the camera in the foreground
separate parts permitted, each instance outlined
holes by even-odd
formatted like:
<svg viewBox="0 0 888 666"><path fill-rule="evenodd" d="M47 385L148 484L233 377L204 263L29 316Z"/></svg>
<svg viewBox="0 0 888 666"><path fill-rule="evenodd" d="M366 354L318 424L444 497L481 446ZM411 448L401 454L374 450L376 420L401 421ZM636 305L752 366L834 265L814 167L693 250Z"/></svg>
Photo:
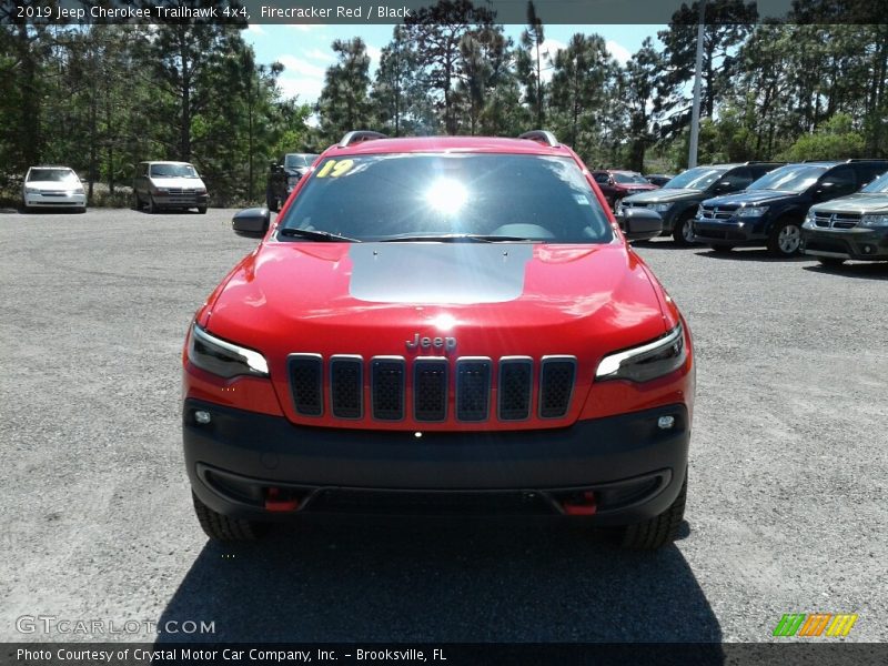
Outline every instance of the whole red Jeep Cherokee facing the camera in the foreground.
<svg viewBox="0 0 888 666"><path fill-rule="evenodd" d="M183 431L213 538L303 512L551 513L629 547L682 522L690 334L543 131L327 149L198 311Z"/></svg>

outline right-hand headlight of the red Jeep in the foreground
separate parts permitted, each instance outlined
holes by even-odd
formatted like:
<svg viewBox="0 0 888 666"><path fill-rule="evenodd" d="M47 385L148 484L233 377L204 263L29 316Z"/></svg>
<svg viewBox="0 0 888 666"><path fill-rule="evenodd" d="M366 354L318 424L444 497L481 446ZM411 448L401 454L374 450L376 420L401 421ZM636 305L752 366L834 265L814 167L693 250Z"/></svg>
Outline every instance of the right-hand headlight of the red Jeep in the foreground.
<svg viewBox="0 0 888 666"><path fill-rule="evenodd" d="M648 382L678 370L686 360L685 333L682 324L678 324L654 342L608 354L598 363L595 379Z"/></svg>

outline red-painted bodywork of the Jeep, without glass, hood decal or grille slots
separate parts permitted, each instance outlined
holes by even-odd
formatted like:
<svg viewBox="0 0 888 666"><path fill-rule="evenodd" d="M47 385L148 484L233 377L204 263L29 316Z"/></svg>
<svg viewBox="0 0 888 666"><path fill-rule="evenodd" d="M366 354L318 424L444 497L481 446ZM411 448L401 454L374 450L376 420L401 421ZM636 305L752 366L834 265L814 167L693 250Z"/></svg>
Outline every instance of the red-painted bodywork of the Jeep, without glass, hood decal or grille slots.
<svg viewBox="0 0 888 666"><path fill-rule="evenodd" d="M332 155L385 152L466 151L571 155L583 169L602 208L613 216L599 188L575 153L527 140L428 138L374 140L346 149L329 149L315 165ZM313 167L314 169L314 167ZM299 196L311 175L300 180L279 215ZM642 188L648 189L648 188ZM577 420L682 403L690 408L694 394L693 350L687 326L686 364L674 373L635 384L627 381L593 382L606 354L664 335L679 321L672 299L649 269L632 251L613 223L608 244L535 244L525 266L518 297L498 303L434 304L386 303L359 300L350 293L350 243L278 242L272 224L259 248L244 258L198 311L196 322L209 333L262 353L270 379L222 380L184 362L185 397L205 400L264 414L285 415L303 425L359 430L485 431L534 430L567 426ZM460 244L453 244L460 252ZM405 276L408 279L408 276ZM454 373L451 373L448 417L442 423L414 422L410 410L400 422L357 421L296 414L290 397L286 359L293 353L357 354L373 356L445 355L443 350L411 352L414 334L455 336L452 356L494 360L491 404L497 402L496 360L501 356L574 355L577 374L571 408L564 418L502 423L495 418L463 423L454 418ZM370 386L364 404L370 404ZM407 379L405 404L412 404ZM533 382L533 404L538 383ZM329 396L325 396L329 398Z"/></svg>

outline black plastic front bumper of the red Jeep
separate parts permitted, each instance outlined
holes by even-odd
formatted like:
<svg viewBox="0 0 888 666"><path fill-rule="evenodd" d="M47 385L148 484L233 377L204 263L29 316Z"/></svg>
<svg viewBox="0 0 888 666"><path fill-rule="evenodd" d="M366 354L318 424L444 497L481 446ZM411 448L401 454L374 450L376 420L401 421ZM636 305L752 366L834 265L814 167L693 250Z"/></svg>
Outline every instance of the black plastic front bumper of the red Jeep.
<svg viewBox="0 0 888 666"><path fill-rule="evenodd" d="M198 410L210 413L209 424L196 423ZM660 416L673 416L673 427L662 430ZM355 496L362 513L377 513L374 498L400 500L404 511L397 513L413 513L430 497L460 496L482 500L473 506L484 506L485 498L523 498L547 507L544 513L569 514L565 505L592 492L594 515L582 513L599 524L628 524L658 515L675 501L689 437L688 413L680 404L566 428L426 432L420 437L412 431L299 426L195 400L186 400L183 412L194 493L219 513L253 519L331 509L336 505L331 497ZM272 506L270 492L295 505Z"/></svg>

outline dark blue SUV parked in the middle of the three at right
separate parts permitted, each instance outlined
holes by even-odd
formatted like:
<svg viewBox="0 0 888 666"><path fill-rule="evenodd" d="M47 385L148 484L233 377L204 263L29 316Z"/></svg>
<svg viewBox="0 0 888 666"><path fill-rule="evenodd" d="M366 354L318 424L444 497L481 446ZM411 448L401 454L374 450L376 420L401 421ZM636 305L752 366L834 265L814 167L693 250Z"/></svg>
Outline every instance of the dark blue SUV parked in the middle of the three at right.
<svg viewBox="0 0 888 666"><path fill-rule="evenodd" d="M766 245L791 256L801 244L808 209L857 192L888 169L888 160L799 162L775 169L745 192L703 202L694 220L694 240L716 252L737 245Z"/></svg>

